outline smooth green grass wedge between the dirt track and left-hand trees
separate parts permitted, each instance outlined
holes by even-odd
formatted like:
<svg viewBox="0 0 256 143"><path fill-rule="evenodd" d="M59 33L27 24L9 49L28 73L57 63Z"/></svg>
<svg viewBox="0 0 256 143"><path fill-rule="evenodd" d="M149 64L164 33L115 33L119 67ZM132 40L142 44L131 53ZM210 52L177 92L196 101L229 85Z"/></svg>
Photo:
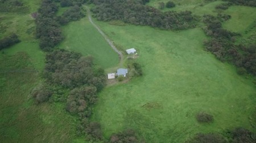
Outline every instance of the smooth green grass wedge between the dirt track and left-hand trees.
<svg viewBox="0 0 256 143"><path fill-rule="evenodd" d="M90 24L87 17L68 24L63 28L63 33L65 39L60 48L76 51L84 56L92 55L94 61L103 68L117 66L118 54Z"/></svg>

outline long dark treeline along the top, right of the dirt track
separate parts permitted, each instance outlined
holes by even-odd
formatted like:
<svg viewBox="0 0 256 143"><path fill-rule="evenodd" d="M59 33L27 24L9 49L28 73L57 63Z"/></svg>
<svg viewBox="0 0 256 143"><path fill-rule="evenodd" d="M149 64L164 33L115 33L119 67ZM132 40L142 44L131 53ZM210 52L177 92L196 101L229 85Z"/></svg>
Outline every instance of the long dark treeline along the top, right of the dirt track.
<svg viewBox="0 0 256 143"><path fill-rule="evenodd" d="M143 1L94 0L92 9L98 20L122 20L135 25L148 25L160 29L188 29L197 24L196 16L190 11L162 12L154 7L143 5Z"/></svg>

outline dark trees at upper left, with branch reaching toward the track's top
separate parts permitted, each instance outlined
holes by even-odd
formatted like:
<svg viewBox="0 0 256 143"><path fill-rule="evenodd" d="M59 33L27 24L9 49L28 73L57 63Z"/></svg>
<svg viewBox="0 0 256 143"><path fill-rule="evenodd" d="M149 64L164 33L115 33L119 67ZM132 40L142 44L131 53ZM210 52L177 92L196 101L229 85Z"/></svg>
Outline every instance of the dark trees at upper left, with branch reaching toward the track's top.
<svg viewBox="0 0 256 143"><path fill-rule="evenodd" d="M76 0L72 0L76 1ZM72 3L73 5L74 3ZM67 24L69 21L81 19L81 5L74 5L64 12L61 16L56 16L58 7L51 0L43 0L38 14L36 14L36 38L40 40L40 48L44 51L51 51L54 46L63 40L60 25Z"/></svg>

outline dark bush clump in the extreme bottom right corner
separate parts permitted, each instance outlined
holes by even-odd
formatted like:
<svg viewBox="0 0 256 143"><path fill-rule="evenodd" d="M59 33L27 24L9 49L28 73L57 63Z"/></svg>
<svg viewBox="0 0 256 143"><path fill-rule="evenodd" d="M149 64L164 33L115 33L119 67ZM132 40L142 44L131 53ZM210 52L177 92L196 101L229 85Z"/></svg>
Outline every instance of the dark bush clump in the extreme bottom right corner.
<svg viewBox="0 0 256 143"><path fill-rule="evenodd" d="M255 143L256 136L245 128L236 128L232 131L232 143Z"/></svg>

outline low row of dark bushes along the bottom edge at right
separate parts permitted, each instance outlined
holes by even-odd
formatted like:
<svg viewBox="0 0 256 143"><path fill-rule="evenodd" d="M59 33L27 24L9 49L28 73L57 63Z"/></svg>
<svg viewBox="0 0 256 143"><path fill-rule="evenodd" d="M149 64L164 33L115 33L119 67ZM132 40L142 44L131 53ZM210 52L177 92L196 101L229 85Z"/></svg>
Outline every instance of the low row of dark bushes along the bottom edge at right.
<svg viewBox="0 0 256 143"><path fill-rule="evenodd" d="M190 138L186 143L254 143L256 136L245 128L236 128L226 131L222 135L217 133L199 133Z"/></svg>

